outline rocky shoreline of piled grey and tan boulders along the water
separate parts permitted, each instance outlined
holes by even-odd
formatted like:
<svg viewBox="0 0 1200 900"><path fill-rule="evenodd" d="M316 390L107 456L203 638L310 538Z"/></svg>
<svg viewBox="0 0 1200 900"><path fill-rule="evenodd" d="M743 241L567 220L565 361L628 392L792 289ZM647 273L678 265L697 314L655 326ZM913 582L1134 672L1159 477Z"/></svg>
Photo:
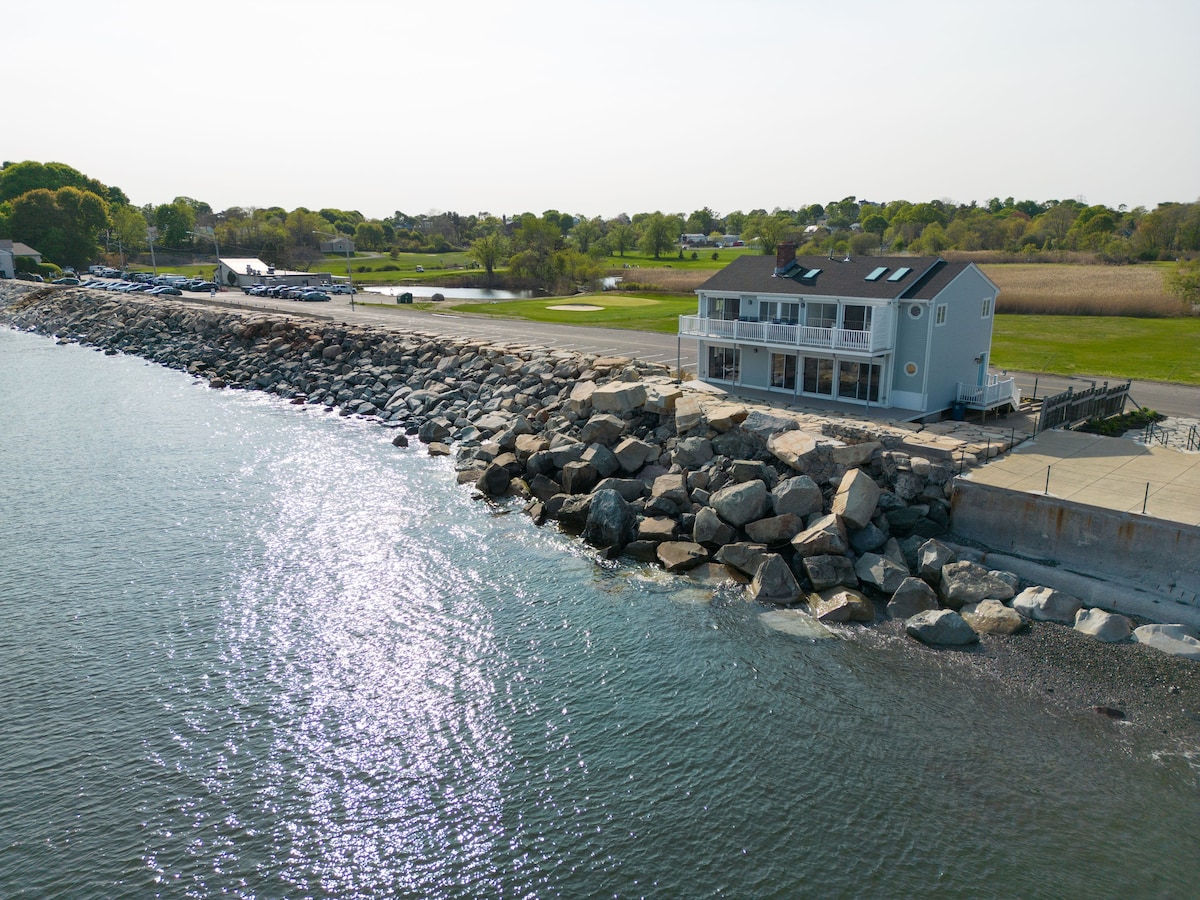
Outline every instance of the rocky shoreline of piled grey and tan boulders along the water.
<svg viewBox="0 0 1200 900"><path fill-rule="evenodd" d="M1194 635L1084 608L952 546L954 478L1008 449L1004 432L964 439L806 414L680 385L630 359L282 312L26 286L0 286L0 320L22 330L143 356L214 388L376 419L395 430L395 445L454 455L460 482L521 503L602 556L743 583L748 600L786 613L787 630L902 628L940 650L974 648L1007 678L1037 671L1075 685L1050 692L1092 697L1086 706L1102 715L1168 721L1200 745ZM1075 661L1012 664L1028 662L1021 642ZM1122 694L1080 671L1078 660L1093 658L1116 660L1105 678L1121 677L1122 658L1158 674L1142 672L1144 690Z"/></svg>

